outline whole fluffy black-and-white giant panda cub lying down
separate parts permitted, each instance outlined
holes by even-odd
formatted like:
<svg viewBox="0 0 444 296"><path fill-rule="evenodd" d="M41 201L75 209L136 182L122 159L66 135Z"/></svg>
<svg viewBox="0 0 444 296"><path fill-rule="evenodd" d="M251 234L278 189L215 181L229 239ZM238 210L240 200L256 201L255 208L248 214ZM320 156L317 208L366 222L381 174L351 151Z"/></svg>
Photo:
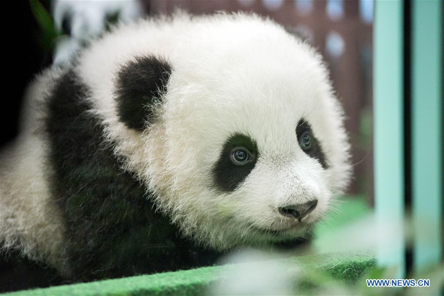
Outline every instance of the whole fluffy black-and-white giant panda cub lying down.
<svg viewBox="0 0 444 296"><path fill-rule="evenodd" d="M3 261L73 281L292 244L350 177L321 56L256 15L118 26L37 76L22 123L1 152Z"/></svg>

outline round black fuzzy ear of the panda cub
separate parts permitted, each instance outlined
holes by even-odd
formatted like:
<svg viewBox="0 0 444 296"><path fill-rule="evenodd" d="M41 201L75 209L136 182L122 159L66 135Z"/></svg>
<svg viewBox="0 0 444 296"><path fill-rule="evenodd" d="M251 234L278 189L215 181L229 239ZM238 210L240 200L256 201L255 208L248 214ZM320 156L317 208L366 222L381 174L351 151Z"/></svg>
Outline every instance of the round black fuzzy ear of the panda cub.
<svg viewBox="0 0 444 296"><path fill-rule="evenodd" d="M120 68L115 101L117 114L127 127L144 129L146 121L152 119L152 104L166 91L170 74L170 64L152 55L137 57Z"/></svg>

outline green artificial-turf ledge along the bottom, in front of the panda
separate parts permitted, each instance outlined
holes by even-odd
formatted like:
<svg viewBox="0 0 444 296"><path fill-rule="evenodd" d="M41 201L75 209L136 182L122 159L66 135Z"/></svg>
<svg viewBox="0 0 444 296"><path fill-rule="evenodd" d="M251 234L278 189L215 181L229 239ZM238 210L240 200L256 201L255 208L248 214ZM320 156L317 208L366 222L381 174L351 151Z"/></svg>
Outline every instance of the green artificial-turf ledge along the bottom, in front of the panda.
<svg viewBox="0 0 444 296"><path fill-rule="evenodd" d="M253 264L253 263L242 263ZM324 254L292 257L285 260L292 268L317 269L336 279L356 281L375 264L371 252L353 254ZM236 264L210 266L175 272L133 276L92 283L57 286L46 289L19 291L3 295L196 295L206 294L210 283L222 278ZM319 275L318 275L319 276Z"/></svg>

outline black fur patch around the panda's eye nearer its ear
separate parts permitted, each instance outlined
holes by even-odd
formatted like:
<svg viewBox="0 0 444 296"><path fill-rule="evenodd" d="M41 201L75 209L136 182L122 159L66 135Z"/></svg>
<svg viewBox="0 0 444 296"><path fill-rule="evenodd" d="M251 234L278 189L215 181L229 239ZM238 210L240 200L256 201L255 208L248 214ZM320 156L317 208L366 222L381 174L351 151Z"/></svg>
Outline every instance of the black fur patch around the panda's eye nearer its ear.
<svg viewBox="0 0 444 296"><path fill-rule="evenodd" d="M254 154L252 162L239 166L230 160L231 150L236 147L245 147ZM235 134L225 142L219 160L213 167L214 184L224 192L230 192L237 188L255 167L259 157L258 146L250 137L242 134Z"/></svg>

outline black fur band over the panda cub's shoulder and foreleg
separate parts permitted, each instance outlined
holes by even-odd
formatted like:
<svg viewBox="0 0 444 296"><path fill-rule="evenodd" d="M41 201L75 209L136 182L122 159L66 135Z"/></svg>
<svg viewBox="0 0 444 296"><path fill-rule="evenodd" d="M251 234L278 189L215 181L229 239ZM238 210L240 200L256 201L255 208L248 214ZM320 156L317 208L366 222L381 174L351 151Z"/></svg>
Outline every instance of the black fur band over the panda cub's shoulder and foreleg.
<svg viewBox="0 0 444 296"><path fill-rule="evenodd" d="M149 66L152 60L144 61ZM155 212L145 188L120 168L112 143L103 140L100 119L88 112L88 92L74 72L65 74L48 98L46 119L52 194L66 218L75 280L213 263L218 254L183 239L167 217Z"/></svg>

